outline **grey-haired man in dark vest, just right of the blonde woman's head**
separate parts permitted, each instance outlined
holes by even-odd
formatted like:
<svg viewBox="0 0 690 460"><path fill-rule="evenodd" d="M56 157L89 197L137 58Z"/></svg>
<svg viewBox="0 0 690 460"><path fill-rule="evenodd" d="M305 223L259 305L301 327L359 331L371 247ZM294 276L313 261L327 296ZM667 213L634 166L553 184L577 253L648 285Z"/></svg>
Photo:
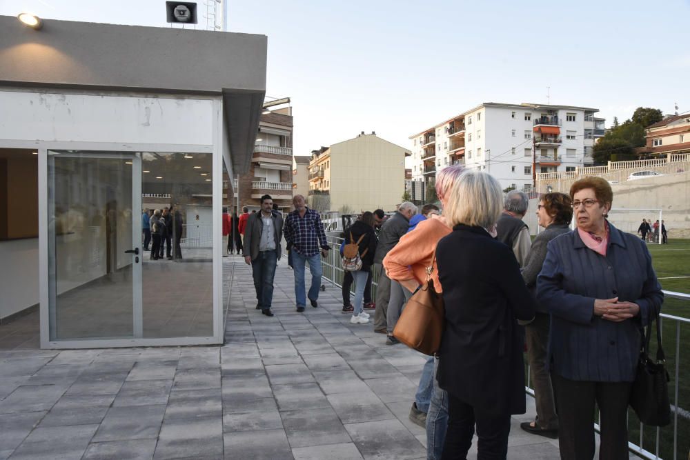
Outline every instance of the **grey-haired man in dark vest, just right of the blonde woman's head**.
<svg viewBox="0 0 690 460"><path fill-rule="evenodd" d="M532 246L532 240L529 237L529 228L527 224L522 221L522 218L527 213L529 207L529 200L527 195L520 190L511 190L506 194L503 203L503 212L498 218L496 230L498 232L497 239L502 243L507 244L513 248L513 254L517 263L522 268L524 261Z"/></svg>

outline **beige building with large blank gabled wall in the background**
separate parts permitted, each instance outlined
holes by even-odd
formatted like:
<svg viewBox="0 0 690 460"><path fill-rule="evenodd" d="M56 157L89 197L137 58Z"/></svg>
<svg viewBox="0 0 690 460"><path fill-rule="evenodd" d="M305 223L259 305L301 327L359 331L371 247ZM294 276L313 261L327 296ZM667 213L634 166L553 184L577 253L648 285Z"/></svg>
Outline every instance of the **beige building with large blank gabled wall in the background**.
<svg viewBox="0 0 690 460"><path fill-rule="evenodd" d="M314 150L308 203L320 211L395 210L405 189L405 157L411 154L362 131L354 139Z"/></svg>

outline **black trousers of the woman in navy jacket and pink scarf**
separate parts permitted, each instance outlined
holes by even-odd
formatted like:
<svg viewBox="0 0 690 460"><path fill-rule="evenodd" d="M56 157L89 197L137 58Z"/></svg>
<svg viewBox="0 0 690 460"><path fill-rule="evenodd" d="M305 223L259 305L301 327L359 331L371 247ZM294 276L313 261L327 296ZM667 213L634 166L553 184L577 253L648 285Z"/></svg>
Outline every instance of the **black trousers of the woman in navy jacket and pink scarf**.
<svg viewBox="0 0 690 460"><path fill-rule="evenodd" d="M552 372L558 405L558 447L561 459L594 457L594 404L600 413L600 460L628 458L627 410L631 382L593 382L565 379Z"/></svg>

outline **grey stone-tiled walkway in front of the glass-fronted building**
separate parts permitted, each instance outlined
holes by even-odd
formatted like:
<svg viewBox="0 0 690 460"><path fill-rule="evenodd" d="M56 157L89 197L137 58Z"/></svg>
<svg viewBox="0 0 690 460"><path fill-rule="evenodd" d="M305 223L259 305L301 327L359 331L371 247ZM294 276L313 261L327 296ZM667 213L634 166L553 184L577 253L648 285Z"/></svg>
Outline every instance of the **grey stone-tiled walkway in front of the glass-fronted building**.
<svg viewBox="0 0 690 460"><path fill-rule="evenodd" d="M21 349L37 343L36 315L0 326L25 334L0 350L0 459L426 458L408 420L422 355L351 325L337 288L295 312L285 261L265 317L249 268L225 261L223 347ZM513 419L509 458L558 458L556 441L520 430L530 410Z"/></svg>

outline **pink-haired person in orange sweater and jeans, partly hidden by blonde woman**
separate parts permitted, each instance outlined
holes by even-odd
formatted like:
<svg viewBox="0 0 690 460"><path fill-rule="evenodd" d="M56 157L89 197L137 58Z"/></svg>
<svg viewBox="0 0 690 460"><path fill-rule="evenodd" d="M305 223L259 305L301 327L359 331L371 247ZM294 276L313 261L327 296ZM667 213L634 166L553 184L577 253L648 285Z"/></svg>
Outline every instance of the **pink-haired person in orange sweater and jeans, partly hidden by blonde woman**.
<svg viewBox="0 0 690 460"><path fill-rule="evenodd" d="M463 166L449 166L436 175L436 196L442 207L450 195L453 183L463 174ZM426 268L431 266L436 245L451 232L446 219L438 215L430 215L428 219L420 221L413 231L400 239L384 259L384 268L388 277L400 283L409 292L415 292L426 279ZM434 288L442 292L438 281L438 270L431 274ZM428 357L420 384L412 403L409 418L417 425L426 428L426 448L428 458L440 458L443 441L446 434L446 395L435 385L435 362Z"/></svg>

